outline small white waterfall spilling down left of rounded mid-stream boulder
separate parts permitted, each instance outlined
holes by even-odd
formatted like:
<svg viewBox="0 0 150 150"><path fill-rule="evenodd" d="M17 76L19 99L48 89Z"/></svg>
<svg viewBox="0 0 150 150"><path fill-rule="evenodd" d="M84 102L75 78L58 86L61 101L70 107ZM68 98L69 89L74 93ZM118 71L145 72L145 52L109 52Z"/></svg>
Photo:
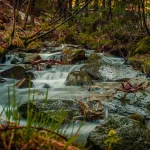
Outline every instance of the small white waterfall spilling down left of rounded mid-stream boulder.
<svg viewBox="0 0 150 150"><path fill-rule="evenodd" d="M68 74L79 70L83 65L55 65L48 71L35 71L36 80L33 80L36 88L58 88L64 87Z"/></svg>

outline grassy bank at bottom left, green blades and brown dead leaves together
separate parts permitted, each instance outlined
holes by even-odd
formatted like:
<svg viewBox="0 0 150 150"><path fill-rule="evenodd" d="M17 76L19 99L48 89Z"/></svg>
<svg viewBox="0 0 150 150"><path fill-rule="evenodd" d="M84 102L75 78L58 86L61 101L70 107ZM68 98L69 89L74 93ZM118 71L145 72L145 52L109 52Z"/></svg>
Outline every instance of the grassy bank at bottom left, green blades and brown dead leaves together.
<svg viewBox="0 0 150 150"><path fill-rule="evenodd" d="M32 100L30 98L32 97ZM0 117L0 148L6 150L79 150L73 145L77 133L70 139L62 134L61 125L67 116L66 112L56 110L54 112L44 112L48 100L48 91L44 100L42 111L34 113L30 109L30 104L34 103L34 93L31 96L28 89L28 107L26 126L21 126L21 114L18 112L16 90L13 88L11 102L10 88L8 88L8 103L1 112ZM6 118L3 119L2 114ZM33 115L34 114L34 115ZM49 115L51 114L51 115ZM70 123L71 124L71 123ZM78 131L77 131L78 132Z"/></svg>

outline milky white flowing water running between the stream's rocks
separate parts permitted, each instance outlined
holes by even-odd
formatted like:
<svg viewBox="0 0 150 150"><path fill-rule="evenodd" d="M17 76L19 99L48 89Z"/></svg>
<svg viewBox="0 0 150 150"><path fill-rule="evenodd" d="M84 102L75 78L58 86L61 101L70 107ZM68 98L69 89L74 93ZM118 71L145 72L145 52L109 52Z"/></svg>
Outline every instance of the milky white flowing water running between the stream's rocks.
<svg viewBox="0 0 150 150"><path fill-rule="evenodd" d="M64 46L64 45L63 45ZM57 48L55 48L57 49ZM58 48L59 49L59 48ZM40 54L43 60L60 60L61 52L51 53L52 48L45 49L43 54ZM86 56L89 56L93 51L86 51ZM118 85L117 80L124 78L134 78L134 77L143 77L139 71L135 71L131 66L124 65L124 60L122 58L116 57L107 57L103 54L100 54L102 57L101 67L99 72L103 78L103 82L95 81L96 85L99 85L98 90L88 91L87 88L81 86L66 86L65 80L68 74L72 71L80 70L84 64L76 65L53 65L49 69L45 69L45 66L41 67L41 71L33 71L35 79L32 80L33 87L30 89L31 96L34 94L36 100L43 100L46 97L46 92L48 90L48 99L60 99L60 100L80 100L88 96L96 96L105 94L105 92L111 92L112 89ZM14 55L7 55L6 62L4 65L0 65L0 71L11 68L13 65L10 63ZM10 97L13 98L13 85L17 82L14 79L5 78L6 82L0 83L0 104L6 105L8 99L8 87L10 88ZM109 88L107 88L109 87ZM19 103L24 103L28 99L28 89L16 89L16 99ZM107 104L106 104L107 105ZM108 107L105 107L105 117L108 116ZM86 138L89 132L99 125L103 120L93 121L93 122L84 122L81 132L77 141L83 143L86 141ZM74 134L81 122L72 124L66 132L69 136ZM74 126L74 128L73 128ZM65 128L65 127L64 127ZM73 129L73 130L72 130ZM65 129L64 129L65 130Z"/></svg>

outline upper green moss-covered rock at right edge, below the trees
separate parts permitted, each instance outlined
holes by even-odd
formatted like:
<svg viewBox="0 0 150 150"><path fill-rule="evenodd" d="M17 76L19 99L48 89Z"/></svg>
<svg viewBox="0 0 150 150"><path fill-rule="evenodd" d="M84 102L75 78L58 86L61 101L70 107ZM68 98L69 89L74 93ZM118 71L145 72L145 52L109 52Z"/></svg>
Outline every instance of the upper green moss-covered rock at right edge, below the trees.
<svg viewBox="0 0 150 150"><path fill-rule="evenodd" d="M136 44L134 54L149 54L150 53L150 36L141 39Z"/></svg>

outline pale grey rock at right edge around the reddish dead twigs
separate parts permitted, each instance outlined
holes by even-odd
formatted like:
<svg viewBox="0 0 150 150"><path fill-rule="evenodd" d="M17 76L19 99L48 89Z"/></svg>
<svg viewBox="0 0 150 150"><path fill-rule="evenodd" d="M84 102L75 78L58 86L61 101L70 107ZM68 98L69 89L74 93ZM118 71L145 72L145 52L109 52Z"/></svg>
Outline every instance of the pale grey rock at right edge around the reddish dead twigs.
<svg viewBox="0 0 150 150"><path fill-rule="evenodd" d="M140 85L143 88L147 87L148 80L143 78L132 78L129 80L130 85ZM124 83L124 85L127 85ZM122 86L121 86L122 87ZM121 89L121 88L117 88ZM140 115L143 118L150 119L150 99L149 88L139 90L136 93L125 93L118 91L113 101L108 103L109 113L117 113L123 116Z"/></svg>

